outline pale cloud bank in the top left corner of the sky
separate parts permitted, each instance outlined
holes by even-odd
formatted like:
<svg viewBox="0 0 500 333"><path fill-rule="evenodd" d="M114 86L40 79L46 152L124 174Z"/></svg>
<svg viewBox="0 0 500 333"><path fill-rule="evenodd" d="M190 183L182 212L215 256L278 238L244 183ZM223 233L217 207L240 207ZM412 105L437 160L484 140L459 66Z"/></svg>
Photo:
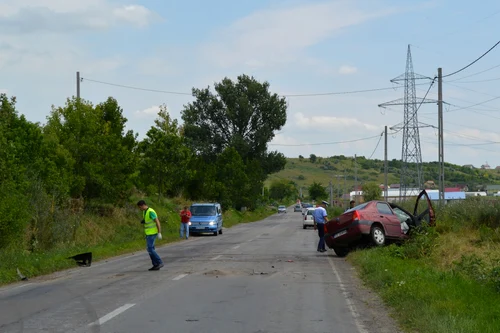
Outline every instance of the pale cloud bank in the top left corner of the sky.
<svg viewBox="0 0 500 333"><path fill-rule="evenodd" d="M108 0L6 0L0 5L0 31L68 33L128 24L144 27L158 18L144 6L116 5Z"/></svg>

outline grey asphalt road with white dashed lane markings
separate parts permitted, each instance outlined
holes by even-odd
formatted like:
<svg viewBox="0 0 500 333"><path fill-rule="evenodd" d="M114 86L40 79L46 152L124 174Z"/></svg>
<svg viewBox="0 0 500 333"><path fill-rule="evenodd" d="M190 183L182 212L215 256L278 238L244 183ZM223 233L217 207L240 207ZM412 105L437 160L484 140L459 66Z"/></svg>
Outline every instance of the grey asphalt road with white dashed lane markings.
<svg viewBox="0 0 500 333"><path fill-rule="evenodd" d="M164 246L156 272L144 250L2 288L0 332L397 332L301 216Z"/></svg>

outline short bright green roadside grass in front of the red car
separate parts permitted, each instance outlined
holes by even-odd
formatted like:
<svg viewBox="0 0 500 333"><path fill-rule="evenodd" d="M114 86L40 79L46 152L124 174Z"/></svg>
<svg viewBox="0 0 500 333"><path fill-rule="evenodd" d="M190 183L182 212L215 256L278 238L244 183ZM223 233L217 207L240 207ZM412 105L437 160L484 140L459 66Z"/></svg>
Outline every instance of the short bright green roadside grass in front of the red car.
<svg viewBox="0 0 500 333"><path fill-rule="evenodd" d="M388 248L354 252L349 260L407 332L500 332L500 294L488 285L395 258Z"/></svg>

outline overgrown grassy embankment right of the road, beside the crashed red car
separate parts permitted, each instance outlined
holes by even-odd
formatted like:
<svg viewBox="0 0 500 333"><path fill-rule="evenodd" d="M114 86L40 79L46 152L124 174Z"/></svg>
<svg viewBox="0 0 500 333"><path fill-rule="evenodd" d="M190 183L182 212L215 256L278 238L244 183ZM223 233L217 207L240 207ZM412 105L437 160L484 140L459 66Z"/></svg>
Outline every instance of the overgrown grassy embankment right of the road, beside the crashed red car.
<svg viewBox="0 0 500 333"><path fill-rule="evenodd" d="M449 205L436 228L348 260L407 332L500 332L499 201Z"/></svg>

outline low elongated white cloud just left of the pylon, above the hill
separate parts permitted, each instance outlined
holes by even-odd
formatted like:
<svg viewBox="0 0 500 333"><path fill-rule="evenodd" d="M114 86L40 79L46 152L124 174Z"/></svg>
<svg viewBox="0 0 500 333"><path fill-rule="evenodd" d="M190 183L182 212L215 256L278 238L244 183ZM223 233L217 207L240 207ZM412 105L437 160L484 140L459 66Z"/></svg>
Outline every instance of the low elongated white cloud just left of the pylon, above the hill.
<svg viewBox="0 0 500 333"><path fill-rule="evenodd" d="M301 129L350 129L351 131L366 132L380 131L380 126L363 123L356 118L334 116L307 117L302 112L293 115L295 124Z"/></svg>

